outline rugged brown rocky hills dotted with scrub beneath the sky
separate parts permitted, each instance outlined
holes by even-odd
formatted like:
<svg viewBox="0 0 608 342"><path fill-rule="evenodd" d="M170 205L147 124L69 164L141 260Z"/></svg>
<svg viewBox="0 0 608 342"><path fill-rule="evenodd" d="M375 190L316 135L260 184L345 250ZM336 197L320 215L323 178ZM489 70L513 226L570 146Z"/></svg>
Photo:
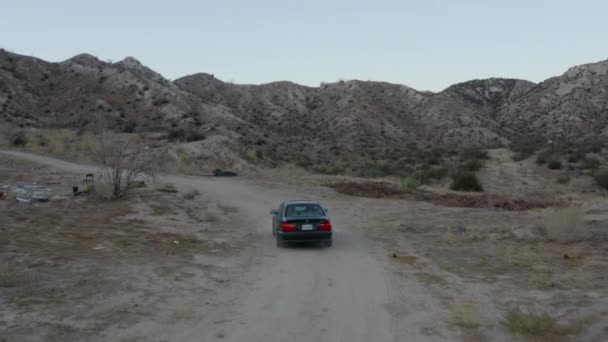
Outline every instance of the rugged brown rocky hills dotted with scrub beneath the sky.
<svg viewBox="0 0 608 342"><path fill-rule="evenodd" d="M341 81L237 85L195 74L171 82L134 58L62 63L0 50L0 120L19 126L187 131L199 149L272 161L382 155L407 144L498 146L529 137L608 137L608 61L535 85L487 79L439 93Z"/></svg>

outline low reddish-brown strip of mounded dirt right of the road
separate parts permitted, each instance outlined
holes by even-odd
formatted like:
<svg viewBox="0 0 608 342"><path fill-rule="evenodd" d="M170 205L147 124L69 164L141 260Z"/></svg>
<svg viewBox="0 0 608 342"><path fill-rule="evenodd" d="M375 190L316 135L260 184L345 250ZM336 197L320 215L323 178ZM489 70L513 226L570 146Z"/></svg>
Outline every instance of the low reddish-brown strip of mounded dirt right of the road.
<svg viewBox="0 0 608 342"><path fill-rule="evenodd" d="M519 211L558 205L558 203L551 201L514 199L496 195L436 194L419 190L407 191L398 189L395 185L387 182L340 182L326 184L326 186L337 192L351 196L370 198L413 197L417 200L446 207L494 208Z"/></svg>

